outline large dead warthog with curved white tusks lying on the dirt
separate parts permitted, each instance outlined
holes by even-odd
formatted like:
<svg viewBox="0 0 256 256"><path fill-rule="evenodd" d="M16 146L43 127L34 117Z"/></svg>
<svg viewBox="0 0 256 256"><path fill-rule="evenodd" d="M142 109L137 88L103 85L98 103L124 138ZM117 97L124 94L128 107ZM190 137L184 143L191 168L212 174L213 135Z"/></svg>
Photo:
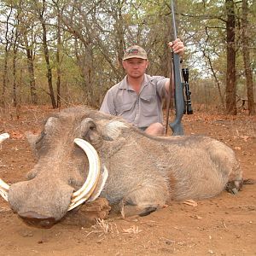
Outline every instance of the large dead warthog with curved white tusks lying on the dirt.
<svg viewBox="0 0 256 256"><path fill-rule="evenodd" d="M170 200L205 199L230 183L239 190L242 183L234 151L224 143L199 136L150 137L88 108L52 115L41 134L28 140L38 163L27 181L10 186L1 181L0 191L21 218L43 226L98 195L120 204L125 216L143 216Z"/></svg>

